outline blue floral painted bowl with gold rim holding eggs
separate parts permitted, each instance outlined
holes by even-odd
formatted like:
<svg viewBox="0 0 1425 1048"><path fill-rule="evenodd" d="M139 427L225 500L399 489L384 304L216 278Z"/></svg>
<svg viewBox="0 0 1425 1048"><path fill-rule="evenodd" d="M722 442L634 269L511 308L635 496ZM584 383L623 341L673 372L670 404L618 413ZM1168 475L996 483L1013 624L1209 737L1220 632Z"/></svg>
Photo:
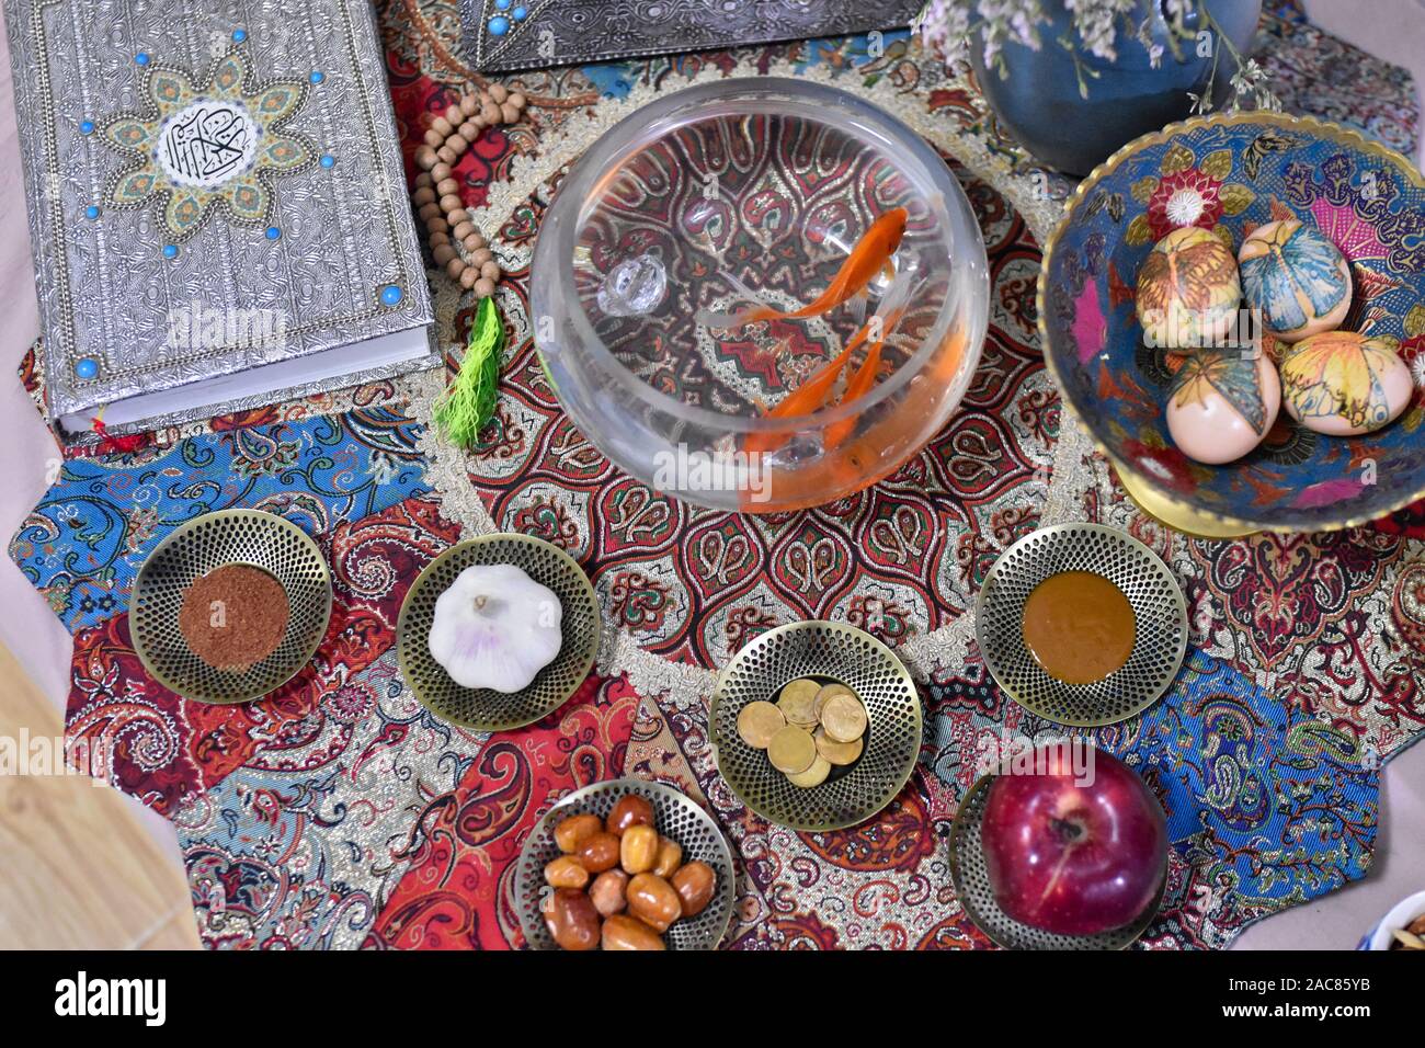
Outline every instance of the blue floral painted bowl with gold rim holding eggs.
<svg viewBox="0 0 1425 1048"><path fill-rule="evenodd" d="M1173 375L1134 315L1139 267L1173 228L1250 230L1298 218L1351 267L1342 329L1425 348L1425 177L1355 131L1274 113L1218 114L1144 135L1086 178L1045 251L1039 327L1064 401L1139 505L1180 530L1351 528L1425 496L1425 408L1374 433L1325 436L1285 411L1223 466L1193 462L1167 429Z"/></svg>

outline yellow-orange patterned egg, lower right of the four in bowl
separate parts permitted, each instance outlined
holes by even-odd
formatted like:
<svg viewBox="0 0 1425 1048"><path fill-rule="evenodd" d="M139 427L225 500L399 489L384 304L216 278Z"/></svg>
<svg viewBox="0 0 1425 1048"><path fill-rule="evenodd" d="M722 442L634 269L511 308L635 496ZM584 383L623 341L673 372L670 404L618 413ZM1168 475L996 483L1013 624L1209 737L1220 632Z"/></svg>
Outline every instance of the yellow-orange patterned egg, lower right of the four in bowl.
<svg viewBox="0 0 1425 1048"><path fill-rule="evenodd" d="M1281 358L1287 411L1331 436L1369 433L1394 422L1415 395L1411 369L1388 338L1325 331Z"/></svg>

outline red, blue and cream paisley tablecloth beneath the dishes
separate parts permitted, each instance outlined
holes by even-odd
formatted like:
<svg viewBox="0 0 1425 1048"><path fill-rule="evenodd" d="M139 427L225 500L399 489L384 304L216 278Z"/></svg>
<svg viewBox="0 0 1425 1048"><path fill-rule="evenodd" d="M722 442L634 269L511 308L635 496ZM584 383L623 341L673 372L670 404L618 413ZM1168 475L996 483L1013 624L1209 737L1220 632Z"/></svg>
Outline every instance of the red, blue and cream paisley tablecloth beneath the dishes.
<svg viewBox="0 0 1425 1048"><path fill-rule="evenodd" d="M1351 56L1291 4L1264 61L1288 108L1348 120L1414 150L1409 78ZM475 74L447 0L382 6L408 158L426 114ZM1331 56L1335 56L1332 58ZM795 74L852 87L952 164L980 218L990 334L960 411L901 471L799 513L700 510L620 473L559 409L529 338L529 258L567 164L663 91L703 78ZM985 947L949 884L943 836L976 764L1012 737L1062 729L993 684L972 606L1000 550L1035 528L1103 520L1177 573L1188 660L1147 713L1094 741L1168 811L1170 883L1147 947L1220 947L1248 923L1358 878L1377 846L1379 767L1425 730L1425 516L1322 536L1188 539L1137 513L1060 411L1035 328L1039 244L1062 180L988 118L903 34L884 53L835 40L517 78L524 123L487 133L457 170L507 278L496 421L462 453L428 425L439 374L151 435L128 455L68 449L11 558L76 636L67 724L125 791L180 834L212 947L520 944L512 860L569 790L620 774L704 803L738 858L727 945ZM834 178L835 175L829 175ZM734 231L750 237L745 230ZM443 345L475 302L433 271ZM31 388L37 384L27 369ZM182 520L256 506L319 538L335 577L312 666L238 707L148 680L125 607L144 556ZM462 535L556 542L594 580L606 620L596 674L539 724L492 736L415 702L395 620L420 567ZM878 615L871 615L875 607ZM747 811L707 739L714 667L760 632L826 617L872 629L922 679L926 733L911 784L854 830L795 833Z"/></svg>

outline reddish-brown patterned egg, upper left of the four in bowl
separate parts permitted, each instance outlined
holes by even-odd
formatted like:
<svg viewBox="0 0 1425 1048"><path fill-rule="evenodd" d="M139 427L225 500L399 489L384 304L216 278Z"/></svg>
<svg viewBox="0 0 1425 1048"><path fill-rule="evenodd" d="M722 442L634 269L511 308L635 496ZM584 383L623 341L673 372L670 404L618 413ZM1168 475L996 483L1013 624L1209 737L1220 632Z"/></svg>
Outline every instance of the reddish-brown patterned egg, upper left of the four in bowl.
<svg viewBox="0 0 1425 1048"><path fill-rule="evenodd" d="M1139 269L1136 309L1143 341L1160 349L1221 345L1241 297L1230 247L1196 225L1173 230Z"/></svg>

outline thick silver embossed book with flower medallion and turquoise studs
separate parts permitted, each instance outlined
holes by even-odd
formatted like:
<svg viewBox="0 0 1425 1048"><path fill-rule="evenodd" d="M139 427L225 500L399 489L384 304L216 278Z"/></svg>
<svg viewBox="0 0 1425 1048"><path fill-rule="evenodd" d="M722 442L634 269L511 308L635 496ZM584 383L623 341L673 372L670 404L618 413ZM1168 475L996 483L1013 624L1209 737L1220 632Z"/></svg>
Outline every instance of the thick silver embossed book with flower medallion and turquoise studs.
<svg viewBox="0 0 1425 1048"><path fill-rule="evenodd" d="M439 361L366 0L6 0L51 419Z"/></svg>

